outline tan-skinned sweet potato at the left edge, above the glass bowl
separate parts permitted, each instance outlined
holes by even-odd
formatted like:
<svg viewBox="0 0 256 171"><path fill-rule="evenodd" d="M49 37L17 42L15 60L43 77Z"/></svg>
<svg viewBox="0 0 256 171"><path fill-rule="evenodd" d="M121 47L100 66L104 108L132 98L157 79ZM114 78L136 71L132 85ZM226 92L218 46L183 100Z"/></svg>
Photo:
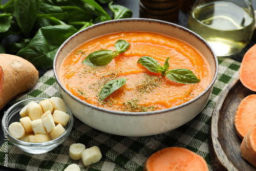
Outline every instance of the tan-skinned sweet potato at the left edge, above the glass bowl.
<svg viewBox="0 0 256 171"><path fill-rule="evenodd" d="M13 97L32 88L38 77L38 71L26 59L0 54L0 110Z"/></svg>

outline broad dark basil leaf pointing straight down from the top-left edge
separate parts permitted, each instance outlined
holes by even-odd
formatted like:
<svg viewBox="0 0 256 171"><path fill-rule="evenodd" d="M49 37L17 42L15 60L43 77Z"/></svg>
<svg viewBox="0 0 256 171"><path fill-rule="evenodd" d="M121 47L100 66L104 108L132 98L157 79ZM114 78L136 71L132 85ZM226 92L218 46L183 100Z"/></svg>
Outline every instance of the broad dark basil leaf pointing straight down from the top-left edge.
<svg viewBox="0 0 256 171"><path fill-rule="evenodd" d="M17 23L25 36L29 36L35 23L37 13L42 4L42 0L23 1L14 0L14 14Z"/></svg>

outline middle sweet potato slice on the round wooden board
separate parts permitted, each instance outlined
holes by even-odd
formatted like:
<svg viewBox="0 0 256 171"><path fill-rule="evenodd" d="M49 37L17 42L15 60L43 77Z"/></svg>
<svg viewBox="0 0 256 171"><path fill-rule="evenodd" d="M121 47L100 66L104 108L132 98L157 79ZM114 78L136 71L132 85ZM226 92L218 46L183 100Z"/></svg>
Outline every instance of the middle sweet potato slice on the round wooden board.
<svg viewBox="0 0 256 171"><path fill-rule="evenodd" d="M256 94L245 97L239 104L234 116L234 126L237 135L243 139L246 133L256 123Z"/></svg>

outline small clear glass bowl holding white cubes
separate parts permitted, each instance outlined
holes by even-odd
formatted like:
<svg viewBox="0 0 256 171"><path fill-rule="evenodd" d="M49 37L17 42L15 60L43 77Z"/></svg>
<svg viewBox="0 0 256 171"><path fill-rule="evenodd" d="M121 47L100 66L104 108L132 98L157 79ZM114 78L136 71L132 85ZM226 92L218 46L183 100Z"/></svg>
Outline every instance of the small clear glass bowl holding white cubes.
<svg viewBox="0 0 256 171"><path fill-rule="evenodd" d="M25 105L27 105L29 102L34 101L36 103L39 103L41 100L44 100L45 98L31 98L26 99L23 101L19 101L15 104L13 104L4 114L2 119L2 129L4 131L5 138L8 137L8 140L13 144L16 145L18 148L22 149L24 152L32 153L32 154L42 154L51 151L55 147L57 147L59 144L64 142L70 135L73 127L73 116L69 109L67 109L67 114L70 115L70 119L65 126L65 133L63 133L58 138L48 141L48 142L40 142L40 143L31 143L31 142L24 142L21 140L18 140L14 137L12 137L8 132L8 126L13 122L19 122L19 119L21 118L19 115L19 111L23 109ZM6 137L7 136L7 137Z"/></svg>

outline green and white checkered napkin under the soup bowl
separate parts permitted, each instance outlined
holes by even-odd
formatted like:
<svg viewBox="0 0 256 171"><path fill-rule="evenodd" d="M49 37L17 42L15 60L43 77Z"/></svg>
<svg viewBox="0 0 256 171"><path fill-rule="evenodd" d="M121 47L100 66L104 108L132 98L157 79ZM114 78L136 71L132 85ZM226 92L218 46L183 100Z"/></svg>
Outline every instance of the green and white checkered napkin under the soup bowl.
<svg viewBox="0 0 256 171"><path fill-rule="evenodd" d="M124 137L103 133L74 119L73 131L63 144L52 151L34 155L23 152L8 142L8 167L22 170L63 170L69 164L76 163L81 170L143 170L143 164L154 152L169 146L190 149L202 156L210 165L208 134L211 114L221 92L239 76L240 62L228 58L219 58L219 75L205 109L193 120L167 133L147 137ZM33 98L59 96L53 70L46 72L36 85L25 94L19 95L10 103ZM69 146L83 143L87 147L99 146L102 159L90 166L83 166L82 161L73 161L69 157ZM6 147L0 148L0 164L4 165Z"/></svg>

